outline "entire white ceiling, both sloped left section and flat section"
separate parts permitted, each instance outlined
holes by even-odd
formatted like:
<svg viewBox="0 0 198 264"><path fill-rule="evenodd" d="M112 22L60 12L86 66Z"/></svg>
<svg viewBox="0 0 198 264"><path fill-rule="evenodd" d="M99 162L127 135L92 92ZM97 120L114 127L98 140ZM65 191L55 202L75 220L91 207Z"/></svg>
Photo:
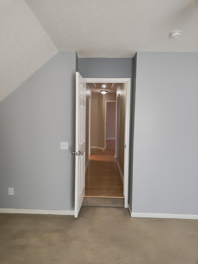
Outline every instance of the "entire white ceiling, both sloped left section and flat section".
<svg viewBox="0 0 198 264"><path fill-rule="evenodd" d="M197 25L198 0L1 0L0 101L58 51L198 52Z"/></svg>

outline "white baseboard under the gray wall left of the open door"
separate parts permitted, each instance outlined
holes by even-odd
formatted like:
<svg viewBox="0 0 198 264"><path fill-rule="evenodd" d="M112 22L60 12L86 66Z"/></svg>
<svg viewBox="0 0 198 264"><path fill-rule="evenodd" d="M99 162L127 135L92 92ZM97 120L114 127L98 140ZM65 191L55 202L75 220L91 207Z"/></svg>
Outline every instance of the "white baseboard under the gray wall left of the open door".
<svg viewBox="0 0 198 264"><path fill-rule="evenodd" d="M1 214L57 214L57 215L74 215L73 210L45 210L45 209L13 209L0 208Z"/></svg>

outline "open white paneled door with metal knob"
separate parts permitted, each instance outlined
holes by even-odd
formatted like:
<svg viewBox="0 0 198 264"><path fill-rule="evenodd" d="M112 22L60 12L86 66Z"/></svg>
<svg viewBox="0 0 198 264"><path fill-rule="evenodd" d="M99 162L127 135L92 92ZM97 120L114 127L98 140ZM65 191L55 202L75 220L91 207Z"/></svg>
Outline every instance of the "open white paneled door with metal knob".
<svg viewBox="0 0 198 264"><path fill-rule="evenodd" d="M84 199L85 186L85 109L86 82L76 72L76 127L75 127L75 209L77 217Z"/></svg>

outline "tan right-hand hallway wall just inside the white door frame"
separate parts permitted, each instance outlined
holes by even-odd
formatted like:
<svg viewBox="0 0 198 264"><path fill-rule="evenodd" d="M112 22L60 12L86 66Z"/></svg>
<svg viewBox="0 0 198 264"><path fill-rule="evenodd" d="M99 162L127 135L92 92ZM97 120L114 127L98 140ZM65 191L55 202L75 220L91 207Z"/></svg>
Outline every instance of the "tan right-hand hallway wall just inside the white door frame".
<svg viewBox="0 0 198 264"><path fill-rule="evenodd" d="M118 163L120 165L121 171L124 175L124 149L125 149L125 108L126 108L126 91L127 84L119 84L117 88L117 93L120 94L120 119L119 119L119 138L118 138Z"/></svg>

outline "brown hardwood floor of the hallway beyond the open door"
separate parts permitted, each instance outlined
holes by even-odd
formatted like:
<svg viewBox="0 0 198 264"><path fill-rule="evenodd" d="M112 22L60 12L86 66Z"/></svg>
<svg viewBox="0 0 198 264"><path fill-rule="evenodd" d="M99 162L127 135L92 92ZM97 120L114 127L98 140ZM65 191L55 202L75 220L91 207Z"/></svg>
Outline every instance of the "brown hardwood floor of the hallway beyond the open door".
<svg viewBox="0 0 198 264"><path fill-rule="evenodd" d="M85 174L85 197L123 196L123 182L118 170L115 150L92 149Z"/></svg>

